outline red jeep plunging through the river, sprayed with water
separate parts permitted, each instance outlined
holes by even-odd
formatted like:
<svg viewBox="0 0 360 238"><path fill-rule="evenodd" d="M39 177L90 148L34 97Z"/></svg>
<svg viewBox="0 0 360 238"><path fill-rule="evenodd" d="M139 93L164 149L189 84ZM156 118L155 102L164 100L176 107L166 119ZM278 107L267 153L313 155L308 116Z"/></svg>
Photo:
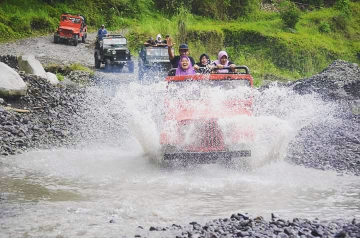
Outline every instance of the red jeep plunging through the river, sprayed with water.
<svg viewBox="0 0 360 238"><path fill-rule="evenodd" d="M162 162L226 163L251 156L253 79L247 66L235 68L183 76L169 71L160 133Z"/></svg>

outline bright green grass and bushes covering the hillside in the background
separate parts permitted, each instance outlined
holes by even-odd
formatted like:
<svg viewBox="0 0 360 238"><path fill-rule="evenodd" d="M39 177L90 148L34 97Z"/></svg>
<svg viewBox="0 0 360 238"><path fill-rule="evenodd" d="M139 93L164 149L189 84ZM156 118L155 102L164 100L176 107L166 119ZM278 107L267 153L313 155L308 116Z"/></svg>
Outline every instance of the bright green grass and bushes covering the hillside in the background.
<svg viewBox="0 0 360 238"><path fill-rule="evenodd" d="M187 42L196 61L225 49L232 61L249 66L257 84L309 76L338 58L360 63L360 2L264 2L278 10L260 10L260 0L2 0L0 42L51 33L67 11L86 15L92 31L101 23L127 28L132 52L157 33L171 35L175 47Z"/></svg>

